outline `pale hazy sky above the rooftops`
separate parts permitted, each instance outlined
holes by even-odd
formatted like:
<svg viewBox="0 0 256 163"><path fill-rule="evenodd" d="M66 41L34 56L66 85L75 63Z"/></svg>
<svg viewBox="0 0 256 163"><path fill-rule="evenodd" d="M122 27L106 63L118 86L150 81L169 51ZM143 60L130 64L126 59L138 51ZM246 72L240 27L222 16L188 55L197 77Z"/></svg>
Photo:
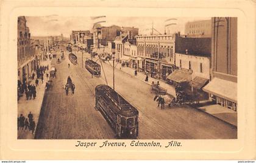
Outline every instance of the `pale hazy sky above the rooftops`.
<svg viewBox="0 0 256 163"><path fill-rule="evenodd" d="M88 16L26 16L27 27L30 29L32 36L57 36L61 33L65 37L69 37L72 30L92 30L93 24L99 21L102 26L116 25L120 27L137 27L139 35L150 35L152 26L158 32L164 34L166 32L180 32L184 34L185 24L188 21L205 20L210 18L172 18L172 17L102 17L93 19ZM171 19L169 21L166 21ZM165 28L166 24L173 24ZM158 34L154 30L154 34Z"/></svg>

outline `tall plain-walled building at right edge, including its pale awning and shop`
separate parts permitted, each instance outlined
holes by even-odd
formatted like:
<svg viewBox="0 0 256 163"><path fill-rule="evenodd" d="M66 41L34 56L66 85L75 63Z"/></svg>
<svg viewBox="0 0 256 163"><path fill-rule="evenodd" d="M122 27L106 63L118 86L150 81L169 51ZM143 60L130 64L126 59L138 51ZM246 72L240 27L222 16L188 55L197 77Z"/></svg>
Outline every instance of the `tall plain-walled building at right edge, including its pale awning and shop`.
<svg viewBox="0 0 256 163"><path fill-rule="evenodd" d="M237 111L237 18L212 18L211 81L203 89L218 105Z"/></svg>

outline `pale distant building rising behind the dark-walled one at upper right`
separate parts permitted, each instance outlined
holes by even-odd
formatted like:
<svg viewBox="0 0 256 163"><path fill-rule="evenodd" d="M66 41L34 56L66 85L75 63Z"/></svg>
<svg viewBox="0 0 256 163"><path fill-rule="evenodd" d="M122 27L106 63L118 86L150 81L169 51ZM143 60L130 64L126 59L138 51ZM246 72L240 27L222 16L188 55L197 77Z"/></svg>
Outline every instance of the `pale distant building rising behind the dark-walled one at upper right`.
<svg viewBox="0 0 256 163"><path fill-rule="evenodd" d="M209 19L186 23L185 35L187 35L187 37L211 37L212 21Z"/></svg>

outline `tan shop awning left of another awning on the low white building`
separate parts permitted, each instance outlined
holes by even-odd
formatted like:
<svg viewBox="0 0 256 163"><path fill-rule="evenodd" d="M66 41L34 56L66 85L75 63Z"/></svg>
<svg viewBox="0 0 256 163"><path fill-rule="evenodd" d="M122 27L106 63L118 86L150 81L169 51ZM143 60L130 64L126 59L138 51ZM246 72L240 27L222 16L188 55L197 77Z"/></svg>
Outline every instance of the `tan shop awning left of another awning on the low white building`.
<svg viewBox="0 0 256 163"><path fill-rule="evenodd" d="M178 83L184 82L184 81L191 81L191 72L185 71L182 69L176 69L174 72L168 75L168 79L172 81L176 81Z"/></svg>

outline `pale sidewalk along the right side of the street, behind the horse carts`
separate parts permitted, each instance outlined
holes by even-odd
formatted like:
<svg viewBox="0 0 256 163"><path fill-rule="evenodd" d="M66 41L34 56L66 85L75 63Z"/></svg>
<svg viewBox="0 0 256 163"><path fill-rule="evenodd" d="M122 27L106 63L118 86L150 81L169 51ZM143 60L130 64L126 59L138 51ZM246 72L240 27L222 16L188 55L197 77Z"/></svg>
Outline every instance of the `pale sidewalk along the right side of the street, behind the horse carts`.
<svg viewBox="0 0 256 163"><path fill-rule="evenodd" d="M111 66L113 65L113 61L109 61L109 62L105 61L105 63L110 64ZM138 72L137 76L135 76L134 75L135 69L128 68L128 67L122 68L120 63L118 63L116 65L116 62L115 62L115 66L116 66L116 69L118 69L119 71L123 71L126 74L132 75L133 77L138 78L141 81L144 81L146 78L146 75L143 72ZM154 83L157 83L157 81L159 81L160 86L167 89L167 92L169 94L176 97L176 92L175 92L174 86L168 85L167 83L165 83L162 80L157 80L155 78L151 78L150 75L148 75L148 77L149 77L149 82L147 83L148 85L151 85L152 81L154 81ZM231 125L234 125L235 127L237 127L237 113L235 111L224 108L220 105L206 105L206 106L198 107L197 109L200 109L201 111L204 111L205 113L211 114L212 116L215 116L218 119L224 120L225 122L230 123Z"/></svg>

